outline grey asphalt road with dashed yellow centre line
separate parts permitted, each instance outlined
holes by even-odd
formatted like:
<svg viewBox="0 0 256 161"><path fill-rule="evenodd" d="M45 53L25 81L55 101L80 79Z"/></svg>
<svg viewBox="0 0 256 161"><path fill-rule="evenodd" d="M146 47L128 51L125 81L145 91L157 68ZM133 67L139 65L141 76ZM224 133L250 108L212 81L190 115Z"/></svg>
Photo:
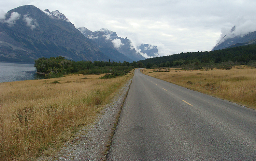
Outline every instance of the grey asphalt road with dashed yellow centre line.
<svg viewBox="0 0 256 161"><path fill-rule="evenodd" d="M256 160L256 111L135 70L107 160Z"/></svg>

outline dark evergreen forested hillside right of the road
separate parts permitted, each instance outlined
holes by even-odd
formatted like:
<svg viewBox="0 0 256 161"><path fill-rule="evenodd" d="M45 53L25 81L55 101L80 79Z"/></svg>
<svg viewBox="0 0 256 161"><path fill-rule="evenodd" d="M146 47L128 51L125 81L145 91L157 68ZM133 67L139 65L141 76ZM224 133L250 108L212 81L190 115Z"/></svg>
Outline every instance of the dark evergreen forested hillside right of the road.
<svg viewBox="0 0 256 161"><path fill-rule="evenodd" d="M256 61L256 44L216 51L187 52L141 60L147 67L190 66L197 69L220 64L247 65ZM156 67L155 66L155 67Z"/></svg>

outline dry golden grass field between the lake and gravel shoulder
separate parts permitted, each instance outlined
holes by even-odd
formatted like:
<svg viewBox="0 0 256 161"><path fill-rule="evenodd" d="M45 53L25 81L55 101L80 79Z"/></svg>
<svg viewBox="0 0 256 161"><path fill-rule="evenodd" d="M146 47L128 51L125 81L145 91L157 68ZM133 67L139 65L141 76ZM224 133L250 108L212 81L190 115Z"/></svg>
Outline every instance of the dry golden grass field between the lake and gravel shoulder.
<svg viewBox="0 0 256 161"><path fill-rule="evenodd" d="M101 75L0 83L0 160L33 160L89 124L132 76Z"/></svg>

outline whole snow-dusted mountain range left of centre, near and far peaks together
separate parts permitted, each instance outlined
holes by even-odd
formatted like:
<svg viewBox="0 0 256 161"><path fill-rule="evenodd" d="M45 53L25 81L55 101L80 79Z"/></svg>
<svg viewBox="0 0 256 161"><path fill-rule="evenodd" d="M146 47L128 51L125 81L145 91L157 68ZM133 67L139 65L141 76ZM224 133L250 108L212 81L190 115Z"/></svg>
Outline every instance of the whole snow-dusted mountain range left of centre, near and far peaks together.
<svg viewBox="0 0 256 161"><path fill-rule="evenodd" d="M34 62L40 57L56 56L74 61L145 59L129 39L113 31L79 30L58 10L42 11L33 5L14 8L0 19L0 60Z"/></svg>

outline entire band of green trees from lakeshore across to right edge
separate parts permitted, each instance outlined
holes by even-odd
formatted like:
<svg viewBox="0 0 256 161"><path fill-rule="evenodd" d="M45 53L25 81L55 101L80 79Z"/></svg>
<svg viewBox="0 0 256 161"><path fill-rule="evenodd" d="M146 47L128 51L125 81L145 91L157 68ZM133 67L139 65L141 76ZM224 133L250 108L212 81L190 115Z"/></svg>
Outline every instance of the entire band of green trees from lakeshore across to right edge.
<svg viewBox="0 0 256 161"><path fill-rule="evenodd" d="M35 69L45 73L46 78L61 77L65 74L112 73L112 76L128 73L134 68L179 67L193 69L230 69L235 65L248 65L256 68L256 44L227 48L216 51L187 52L169 56L148 58L133 62L73 61L65 57L39 58ZM113 74L120 73L120 74ZM109 77L112 77L109 76Z"/></svg>

